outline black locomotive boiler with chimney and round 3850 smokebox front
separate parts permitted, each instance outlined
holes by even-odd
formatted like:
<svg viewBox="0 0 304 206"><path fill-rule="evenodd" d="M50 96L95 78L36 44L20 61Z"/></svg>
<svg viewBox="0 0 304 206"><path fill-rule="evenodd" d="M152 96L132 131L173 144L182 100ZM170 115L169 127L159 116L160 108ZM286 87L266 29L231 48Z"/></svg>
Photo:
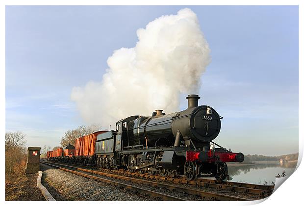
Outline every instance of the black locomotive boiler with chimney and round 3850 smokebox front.
<svg viewBox="0 0 304 206"><path fill-rule="evenodd" d="M189 95L188 108L166 115L158 109L151 117L128 122L128 145L180 145L208 151L221 129L221 116L210 106L198 106L198 95ZM192 144L191 144L192 143Z"/></svg>

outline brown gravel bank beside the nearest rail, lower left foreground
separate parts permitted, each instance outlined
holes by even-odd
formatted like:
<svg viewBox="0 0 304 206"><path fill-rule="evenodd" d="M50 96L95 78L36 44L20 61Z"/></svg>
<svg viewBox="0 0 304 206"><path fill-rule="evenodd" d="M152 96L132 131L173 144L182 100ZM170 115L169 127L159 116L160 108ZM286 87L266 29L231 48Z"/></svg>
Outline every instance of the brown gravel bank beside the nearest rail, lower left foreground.
<svg viewBox="0 0 304 206"><path fill-rule="evenodd" d="M45 164L42 184L57 201L155 201L154 198L83 178Z"/></svg>

